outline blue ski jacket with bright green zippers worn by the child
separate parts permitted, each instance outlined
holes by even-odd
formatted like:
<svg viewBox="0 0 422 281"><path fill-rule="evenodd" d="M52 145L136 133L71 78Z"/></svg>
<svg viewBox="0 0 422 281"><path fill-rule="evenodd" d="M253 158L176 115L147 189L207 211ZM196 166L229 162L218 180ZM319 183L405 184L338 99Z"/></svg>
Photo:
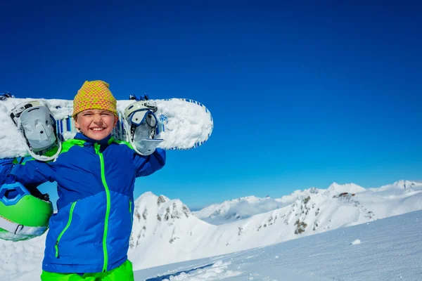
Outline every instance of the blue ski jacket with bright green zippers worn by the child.
<svg viewBox="0 0 422 281"><path fill-rule="evenodd" d="M51 216L43 270L100 273L127 260L134 183L165 164L165 150L141 156L127 143L94 141L82 133L63 143L54 162L27 161L11 174L28 188L56 181L58 212Z"/></svg>

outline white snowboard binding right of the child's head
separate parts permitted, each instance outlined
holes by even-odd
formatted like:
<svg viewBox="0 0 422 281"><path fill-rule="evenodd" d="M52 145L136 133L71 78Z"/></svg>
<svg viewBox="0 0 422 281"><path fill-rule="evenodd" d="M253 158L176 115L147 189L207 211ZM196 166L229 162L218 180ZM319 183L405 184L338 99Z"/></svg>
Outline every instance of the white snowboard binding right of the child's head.
<svg viewBox="0 0 422 281"><path fill-rule="evenodd" d="M156 139L158 126L157 104L153 101L138 101L124 110L124 129L134 150L140 155L151 155L164 140Z"/></svg>

